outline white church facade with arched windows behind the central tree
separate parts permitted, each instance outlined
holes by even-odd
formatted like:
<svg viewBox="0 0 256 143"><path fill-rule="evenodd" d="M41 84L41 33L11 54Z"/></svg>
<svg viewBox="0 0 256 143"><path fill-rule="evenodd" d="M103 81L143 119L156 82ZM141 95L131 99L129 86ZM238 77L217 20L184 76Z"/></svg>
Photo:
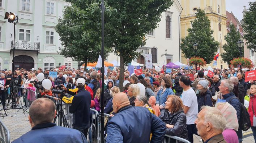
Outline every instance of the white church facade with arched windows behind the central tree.
<svg viewBox="0 0 256 143"><path fill-rule="evenodd" d="M143 51L137 63L145 65L145 54L152 54L153 65L163 65L170 62L180 61L180 13L182 7L178 0L161 15L159 27L149 32L146 36L146 45L137 49ZM167 52L166 52L167 50ZM108 56L107 61L118 60L114 53Z"/></svg>

